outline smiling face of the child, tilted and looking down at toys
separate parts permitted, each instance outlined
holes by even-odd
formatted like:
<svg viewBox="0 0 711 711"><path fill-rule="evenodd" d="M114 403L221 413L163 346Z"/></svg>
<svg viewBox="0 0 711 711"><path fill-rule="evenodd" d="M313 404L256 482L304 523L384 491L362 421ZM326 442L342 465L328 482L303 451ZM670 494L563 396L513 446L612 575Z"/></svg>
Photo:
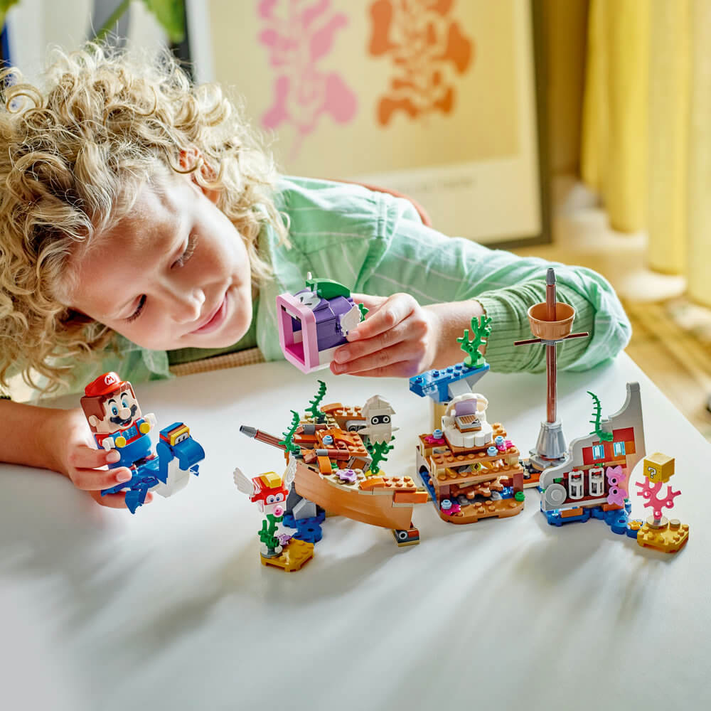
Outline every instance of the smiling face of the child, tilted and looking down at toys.
<svg viewBox="0 0 711 711"><path fill-rule="evenodd" d="M208 197L210 196L210 197ZM146 186L131 213L75 257L70 305L144 348L220 348L252 318L242 237L188 176Z"/></svg>

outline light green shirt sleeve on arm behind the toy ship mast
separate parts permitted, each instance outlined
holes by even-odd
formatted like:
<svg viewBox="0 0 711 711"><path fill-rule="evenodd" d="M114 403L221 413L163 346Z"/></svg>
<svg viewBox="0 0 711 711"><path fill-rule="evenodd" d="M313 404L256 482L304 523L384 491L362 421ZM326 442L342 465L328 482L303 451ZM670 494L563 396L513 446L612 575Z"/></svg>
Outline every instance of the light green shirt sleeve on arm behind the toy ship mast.
<svg viewBox="0 0 711 711"><path fill-rule="evenodd" d="M528 309L545 301L545 274L555 267L557 300L576 311L572 338L557 346L558 365L586 370L629 343L631 326L609 282L592 269L518 257L458 237L445 237L413 218L410 203L383 196L383 232L373 240L355 289L389 296L407 292L421 304L478 300L492 319L486 360L499 372L545 369L545 348L514 346L531 338Z"/></svg>

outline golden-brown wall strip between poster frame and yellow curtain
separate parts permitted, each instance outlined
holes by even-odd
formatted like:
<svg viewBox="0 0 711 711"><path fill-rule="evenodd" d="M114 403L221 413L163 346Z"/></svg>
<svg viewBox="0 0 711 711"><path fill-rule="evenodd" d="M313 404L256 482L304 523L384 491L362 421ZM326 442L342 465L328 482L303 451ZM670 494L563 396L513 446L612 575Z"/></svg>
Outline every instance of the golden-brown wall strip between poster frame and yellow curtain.
<svg viewBox="0 0 711 711"><path fill-rule="evenodd" d="M547 151L554 175L579 174L588 0L542 0Z"/></svg>

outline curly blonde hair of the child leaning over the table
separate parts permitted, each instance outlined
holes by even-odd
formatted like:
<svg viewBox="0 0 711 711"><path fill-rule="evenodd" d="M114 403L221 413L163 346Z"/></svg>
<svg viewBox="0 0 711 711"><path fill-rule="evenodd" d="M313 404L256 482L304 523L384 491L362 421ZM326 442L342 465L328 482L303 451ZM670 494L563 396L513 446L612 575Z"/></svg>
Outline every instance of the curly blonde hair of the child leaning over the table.
<svg viewBox="0 0 711 711"><path fill-rule="evenodd" d="M43 87L0 72L0 384L9 369L63 383L114 335L60 301L69 260L110 230L156 173L194 172L245 240L258 284L264 223L286 239L274 166L217 85L194 86L169 53L153 61L90 44L57 51ZM191 165L181 159L191 156Z"/></svg>

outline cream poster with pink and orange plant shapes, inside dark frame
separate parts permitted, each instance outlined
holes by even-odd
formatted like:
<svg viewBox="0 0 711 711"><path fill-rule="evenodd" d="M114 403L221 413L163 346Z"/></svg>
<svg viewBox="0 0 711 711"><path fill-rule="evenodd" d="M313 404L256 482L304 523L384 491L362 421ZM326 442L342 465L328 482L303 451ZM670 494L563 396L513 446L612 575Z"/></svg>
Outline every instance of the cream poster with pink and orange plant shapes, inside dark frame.
<svg viewBox="0 0 711 711"><path fill-rule="evenodd" d="M215 80L284 172L402 191L449 235L547 241L530 0L208 6Z"/></svg>

